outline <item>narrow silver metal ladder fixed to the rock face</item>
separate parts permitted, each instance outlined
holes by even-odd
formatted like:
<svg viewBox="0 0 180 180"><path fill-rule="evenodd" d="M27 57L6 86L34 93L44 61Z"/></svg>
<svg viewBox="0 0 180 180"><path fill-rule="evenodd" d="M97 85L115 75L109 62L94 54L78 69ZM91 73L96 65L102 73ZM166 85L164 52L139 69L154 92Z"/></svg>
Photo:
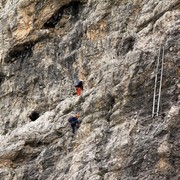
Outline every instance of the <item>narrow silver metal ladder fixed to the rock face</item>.
<svg viewBox="0 0 180 180"><path fill-rule="evenodd" d="M160 106L160 101L161 101L162 77L163 77L163 64L164 64L164 46L161 46L159 49L159 55L157 58L157 67L156 67L156 72L155 72L152 117L159 115L159 106Z"/></svg>

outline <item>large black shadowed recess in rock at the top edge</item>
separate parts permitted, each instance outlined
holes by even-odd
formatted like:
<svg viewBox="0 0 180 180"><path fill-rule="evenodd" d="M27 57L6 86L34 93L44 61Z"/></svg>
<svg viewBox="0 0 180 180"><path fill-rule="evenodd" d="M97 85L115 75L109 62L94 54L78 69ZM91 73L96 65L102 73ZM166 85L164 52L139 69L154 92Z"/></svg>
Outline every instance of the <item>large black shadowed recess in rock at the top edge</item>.
<svg viewBox="0 0 180 180"><path fill-rule="evenodd" d="M56 24L61 20L63 14L68 16L70 20L75 20L79 14L79 8L81 3L79 1L70 2L67 5L62 6L58 9L51 18L44 24L43 28L54 28Z"/></svg>

